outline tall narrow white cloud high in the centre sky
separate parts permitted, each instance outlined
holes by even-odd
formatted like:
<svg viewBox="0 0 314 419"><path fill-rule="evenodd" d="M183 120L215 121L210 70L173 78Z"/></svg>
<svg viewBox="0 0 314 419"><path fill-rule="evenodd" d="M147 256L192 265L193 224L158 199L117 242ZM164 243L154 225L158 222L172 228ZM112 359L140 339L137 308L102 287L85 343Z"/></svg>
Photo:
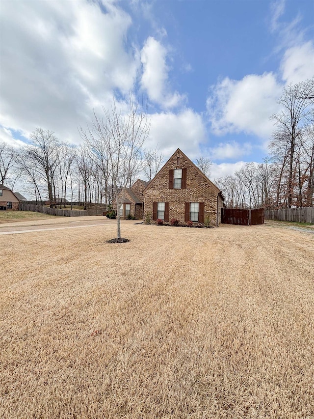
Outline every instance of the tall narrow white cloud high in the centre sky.
<svg viewBox="0 0 314 419"><path fill-rule="evenodd" d="M147 38L141 51L143 64L141 86L147 91L149 98L164 109L178 106L185 99L185 96L178 92L170 93L167 53L166 48L152 36Z"/></svg>

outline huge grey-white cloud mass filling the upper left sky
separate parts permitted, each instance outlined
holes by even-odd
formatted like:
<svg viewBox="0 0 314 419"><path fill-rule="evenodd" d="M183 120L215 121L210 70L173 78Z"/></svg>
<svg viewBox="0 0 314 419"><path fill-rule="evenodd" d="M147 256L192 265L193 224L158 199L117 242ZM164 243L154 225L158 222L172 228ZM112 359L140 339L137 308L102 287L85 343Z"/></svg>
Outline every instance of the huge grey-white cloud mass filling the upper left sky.
<svg viewBox="0 0 314 419"><path fill-rule="evenodd" d="M19 1L19 13L15 6L1 4L0 123L79 141L77 126L92 109L136 80L139 52L126 43L131 17L113 2Z"/></svg>

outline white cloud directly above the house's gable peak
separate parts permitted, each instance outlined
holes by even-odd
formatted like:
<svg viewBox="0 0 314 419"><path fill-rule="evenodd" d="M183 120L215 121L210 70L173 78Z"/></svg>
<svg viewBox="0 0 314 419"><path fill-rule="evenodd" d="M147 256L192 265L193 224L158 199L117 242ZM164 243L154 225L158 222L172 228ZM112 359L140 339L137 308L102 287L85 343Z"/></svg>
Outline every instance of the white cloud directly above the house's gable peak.
<svg viewBox="0 0 314 419"><path fill-rule="evenodd" d="M169 158L181 148L190 159L200 155L199 144L206 140L206 128L202 117L190 109L178 114L162 112L150 115L151 130L147 147L158 143L160 151Z"/></svg>

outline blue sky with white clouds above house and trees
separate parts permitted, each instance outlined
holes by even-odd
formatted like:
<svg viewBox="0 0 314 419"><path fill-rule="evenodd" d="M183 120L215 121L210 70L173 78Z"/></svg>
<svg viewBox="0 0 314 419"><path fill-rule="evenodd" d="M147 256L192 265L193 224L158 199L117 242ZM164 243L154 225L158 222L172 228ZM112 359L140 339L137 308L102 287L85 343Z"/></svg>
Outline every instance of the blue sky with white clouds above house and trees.
<svg viewBox="0 0 314 419"><path fill-rule="evenodd" d="M314 75L310 0L0 0L0 140L77 127L114 94L148 98L149 147L262 162L283 87Z"/></svg>

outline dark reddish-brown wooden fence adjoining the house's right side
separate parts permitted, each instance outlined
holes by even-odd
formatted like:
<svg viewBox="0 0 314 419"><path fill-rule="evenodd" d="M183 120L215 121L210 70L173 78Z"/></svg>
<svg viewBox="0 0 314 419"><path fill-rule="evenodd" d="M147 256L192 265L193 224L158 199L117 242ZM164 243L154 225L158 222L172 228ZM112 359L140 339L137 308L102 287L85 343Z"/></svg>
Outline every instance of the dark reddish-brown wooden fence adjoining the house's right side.
<svg viewBox="0 0 314 419"><path fill-rule="evenodd" d="M256 225L264 223L264 209L254 210L221 208L221 222L224 224Z"/></svg>

